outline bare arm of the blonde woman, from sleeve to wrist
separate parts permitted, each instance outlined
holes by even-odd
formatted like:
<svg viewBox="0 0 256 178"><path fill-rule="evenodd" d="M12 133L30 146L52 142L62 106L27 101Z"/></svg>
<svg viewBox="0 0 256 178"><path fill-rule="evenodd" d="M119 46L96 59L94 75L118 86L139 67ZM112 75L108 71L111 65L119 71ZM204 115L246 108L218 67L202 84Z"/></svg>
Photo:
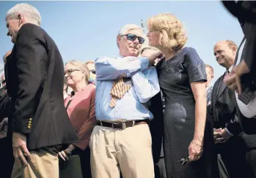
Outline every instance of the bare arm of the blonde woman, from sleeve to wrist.
<svg viewBox="0 0 256 178"><path fill-rule="evenodd" d="M194 139L202 140L205 132L205 120L206 120L205 82L192 82L191 89L193 91L194 99L196 101Z"/></svg>

